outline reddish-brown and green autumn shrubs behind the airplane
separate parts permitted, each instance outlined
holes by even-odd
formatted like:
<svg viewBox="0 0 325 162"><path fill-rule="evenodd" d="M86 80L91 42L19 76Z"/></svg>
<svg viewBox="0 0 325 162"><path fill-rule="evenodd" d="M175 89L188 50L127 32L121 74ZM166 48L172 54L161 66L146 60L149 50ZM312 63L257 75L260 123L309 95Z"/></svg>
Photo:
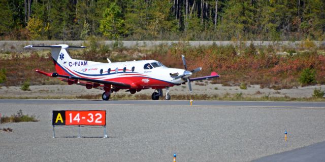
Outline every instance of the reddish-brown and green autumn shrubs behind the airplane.
<svg viewBox="0 0 325 162"><path fill-rule="evenodd" d="M92 48L94 46L94 48ZM99 48L95 48L95 47ZM184 68L181 55L185 55L189 70L202 67L195 76L210 75L216 71L220 78L213 84L231 86L261 85L262 88L292 88L301 86L299 78L305 69L315 72L315 82L310 84L325 84L325 56L318 54L316 49L298 49L297 52L279 55L276 47L237 46L199 46L191 47L186 43L161 45L154 48L123 48L122 46L107 47L104 45L89 45L83 51L70 51L75 59L107 62L132 60L158 60L168 67ZM281 49L289 51L290 49ZM12 54L10 58L1 58L0 64L6 65L6 82L2 85L21 85L30 80L31 85L58 84L57 79L39 75L36 68L54 72L50 54L40 56L38 53L29 55ZM304 84L306 85L306 84Z"/></svg>

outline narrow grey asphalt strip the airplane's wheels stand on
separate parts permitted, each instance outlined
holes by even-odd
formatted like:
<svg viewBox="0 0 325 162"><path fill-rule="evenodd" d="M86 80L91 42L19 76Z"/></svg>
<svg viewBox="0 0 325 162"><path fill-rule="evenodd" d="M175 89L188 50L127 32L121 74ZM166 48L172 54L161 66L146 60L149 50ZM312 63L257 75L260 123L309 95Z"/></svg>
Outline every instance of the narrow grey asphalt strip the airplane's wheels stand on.
<svg viewBox="0 0 325 162"><path fill-rule="evenodd" d="M17 100L1 99L0 104L63 104L63 105L178 105L188 106L189 101L151 100ZM264 101L193 101L193 106L229 106L258 108L325 108L325 102L264 102Z"/></svg>

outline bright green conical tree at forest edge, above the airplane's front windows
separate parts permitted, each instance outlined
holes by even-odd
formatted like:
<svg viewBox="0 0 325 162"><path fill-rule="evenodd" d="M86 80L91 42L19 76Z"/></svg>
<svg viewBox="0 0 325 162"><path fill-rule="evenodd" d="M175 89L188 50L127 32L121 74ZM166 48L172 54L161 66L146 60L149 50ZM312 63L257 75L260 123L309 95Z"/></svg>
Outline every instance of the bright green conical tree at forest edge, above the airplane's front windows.
<svg viewBox="0 0 325 162"><path fill-rule="evenodd" d="M122 12L116 3L112 3L104 12L100 31L110 39L119 39L126 33Z"/></svg>

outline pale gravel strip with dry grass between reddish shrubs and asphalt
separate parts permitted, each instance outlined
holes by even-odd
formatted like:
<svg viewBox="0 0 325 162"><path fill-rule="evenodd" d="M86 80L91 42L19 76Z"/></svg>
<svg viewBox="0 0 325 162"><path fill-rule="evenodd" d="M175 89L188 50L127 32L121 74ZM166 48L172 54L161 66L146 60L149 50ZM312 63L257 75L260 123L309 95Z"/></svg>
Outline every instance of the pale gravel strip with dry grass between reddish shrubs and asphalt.
<svg viewBox="0 0 325 162"><path fill-rule="evenodd" d="M229 94L237 94L242 93L244 97L291 97L291 98L303 98L303 97L312 97L313 90L317 88L325 89L325 85L320 86L308 86L308 87L298 87L294 89L281 89L281 90L273 90L264 88L259 88L259 85L252 85L247 87L247 90L242 90L238 86L234 87L224 87L220 84L208 84L206 86L199 86L192 84L193 92L192 94L203 95L207 94L211 95L219 95L223 96L226 93ZM39 96L52 96L58 97L61 99L76 98L80 95L99 95L102 94L103 91L98 89L90 89L87 90L83 86L78 85L44 85L44 86L30 86L30 91L22 91L19 86L12 87L1 87L0 89L0 97L1 98L23 98L23 97L39 97ZM147 94L151 95L153 90L142 90L137 92L136 94ZM164 90L165 93L165 90ZM188 94L187 85L175 86L170 88L170 94L173 95L186 95ZM115 93L113 93L115 94ZM125 90L120 90L116 92L116 94L130 94L129 92L125 92Z"/></svg>

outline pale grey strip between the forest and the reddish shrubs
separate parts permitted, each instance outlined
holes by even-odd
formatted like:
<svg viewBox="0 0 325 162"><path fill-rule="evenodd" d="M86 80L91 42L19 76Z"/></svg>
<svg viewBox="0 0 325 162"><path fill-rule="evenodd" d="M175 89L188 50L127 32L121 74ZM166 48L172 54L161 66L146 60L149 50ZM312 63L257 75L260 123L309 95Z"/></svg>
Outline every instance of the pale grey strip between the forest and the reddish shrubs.
<svg viewBox="0 0 325 162"><path fill-rule="evenodd" d="M70 46L84 46L86 45L86 41L0 41L0 52L21 52L23 51L23 47L27 45L38 45L38 46L49 46L49 45L59 45L59 44L67 44ZM99 41L100 44L111 45L116 44L116 41ZM183 43L189 46L209 46L216 44L218 46L249 46L253 43L255 46L280 46L280 47L290 47L290 48L299 48L301 41L291 42L291 41L281 41L281 42L272 42L272 41L120 41L118 42L119 46L123 46L126 48L134 48L134 47L146 47L153 48L159 45L167 45L171 46L173 44ZM325 48L325 41L314 41L314 44L317 47Z"/></svg>

